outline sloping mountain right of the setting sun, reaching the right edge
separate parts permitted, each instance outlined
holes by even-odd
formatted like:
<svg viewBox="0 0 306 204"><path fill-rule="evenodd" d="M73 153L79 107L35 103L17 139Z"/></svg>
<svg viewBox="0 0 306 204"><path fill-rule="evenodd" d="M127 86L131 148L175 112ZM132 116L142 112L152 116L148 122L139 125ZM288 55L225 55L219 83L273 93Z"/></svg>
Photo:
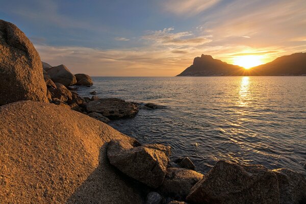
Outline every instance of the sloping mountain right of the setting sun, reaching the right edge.
<svg viewBox="0 0 306 204"><path fill-rule="evenodd" d="M276 58L267 64L252 67L251 75L304 75L306 74L306 53L295 53Z"/></svg>

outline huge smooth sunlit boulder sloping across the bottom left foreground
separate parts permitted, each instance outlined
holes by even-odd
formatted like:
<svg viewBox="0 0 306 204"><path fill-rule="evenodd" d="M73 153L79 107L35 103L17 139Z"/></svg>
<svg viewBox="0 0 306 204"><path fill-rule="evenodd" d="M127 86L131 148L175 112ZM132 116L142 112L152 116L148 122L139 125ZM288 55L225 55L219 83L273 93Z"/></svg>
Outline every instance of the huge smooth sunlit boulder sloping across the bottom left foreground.
<svg viewBox="0 0 306 204"><path fill-rule="evenodd" d="M0 107L1 203L143 203L109 164L106 143L133 139L53 104Z"/></svg>

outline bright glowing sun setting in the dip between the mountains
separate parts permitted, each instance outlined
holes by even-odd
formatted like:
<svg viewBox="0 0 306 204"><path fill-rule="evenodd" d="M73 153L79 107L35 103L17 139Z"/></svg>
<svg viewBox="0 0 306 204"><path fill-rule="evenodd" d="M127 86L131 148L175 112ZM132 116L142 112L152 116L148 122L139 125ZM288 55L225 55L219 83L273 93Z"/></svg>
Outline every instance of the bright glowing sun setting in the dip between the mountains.
<svg viewBox="0 0 306 204"><path fill-rule="evenodd" d="M263 59L263 56L260 56L260 55L238 56L234 59L234 64L241 66L245 69L249 69L251 67L263 64L262 59Z"/></svg>

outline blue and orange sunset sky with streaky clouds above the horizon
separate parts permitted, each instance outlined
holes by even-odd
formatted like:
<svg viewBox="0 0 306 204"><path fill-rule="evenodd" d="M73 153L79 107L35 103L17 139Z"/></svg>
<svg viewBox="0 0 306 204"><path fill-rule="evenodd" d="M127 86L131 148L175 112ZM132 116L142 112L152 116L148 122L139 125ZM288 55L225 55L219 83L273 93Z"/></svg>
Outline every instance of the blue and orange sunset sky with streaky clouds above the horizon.
<svg viewBox="0 0 306 204"><path fill-rule="evenodd" d="M305 0L0 0L42 61L92 76L174 76L201 54L306 50Z"/></svg>

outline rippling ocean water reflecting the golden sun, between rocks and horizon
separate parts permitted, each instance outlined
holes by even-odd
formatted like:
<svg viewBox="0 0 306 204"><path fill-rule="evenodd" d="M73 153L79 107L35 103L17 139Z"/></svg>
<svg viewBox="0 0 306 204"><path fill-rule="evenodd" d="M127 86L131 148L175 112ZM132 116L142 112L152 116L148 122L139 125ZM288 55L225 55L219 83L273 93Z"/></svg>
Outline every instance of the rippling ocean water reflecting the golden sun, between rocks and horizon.
<svg viewBox="0 0 306 204"><path fill-rule="evenodd" d="M306 174L306 77L94 77L78 92L156 103L111 121L141 143L172 147L207 172L218 160Z"/></svg>

